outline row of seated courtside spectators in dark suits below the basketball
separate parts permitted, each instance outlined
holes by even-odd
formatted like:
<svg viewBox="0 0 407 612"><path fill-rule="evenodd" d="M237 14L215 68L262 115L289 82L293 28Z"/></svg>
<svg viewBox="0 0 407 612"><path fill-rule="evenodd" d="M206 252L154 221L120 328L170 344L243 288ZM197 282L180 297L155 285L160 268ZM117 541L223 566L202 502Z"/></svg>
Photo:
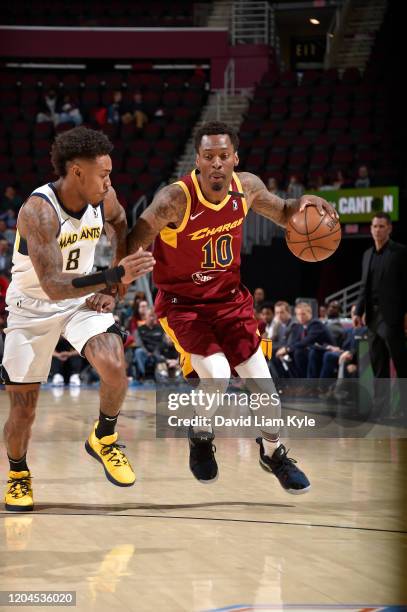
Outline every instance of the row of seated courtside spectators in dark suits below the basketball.
<svg viewBox="0 0 407 612"><path fill-rule="evenodd" d="M283 300L267 302L260 287L253 297L259 331L272 340L268 363L275 380L313 379L318 382L310 392L328 399L338 396L336 379L358 376L358 341L367 337L367 328L356 316L356 305L346 317L336 300L316 312L308 301L298 300L294 306Z"/></svg>

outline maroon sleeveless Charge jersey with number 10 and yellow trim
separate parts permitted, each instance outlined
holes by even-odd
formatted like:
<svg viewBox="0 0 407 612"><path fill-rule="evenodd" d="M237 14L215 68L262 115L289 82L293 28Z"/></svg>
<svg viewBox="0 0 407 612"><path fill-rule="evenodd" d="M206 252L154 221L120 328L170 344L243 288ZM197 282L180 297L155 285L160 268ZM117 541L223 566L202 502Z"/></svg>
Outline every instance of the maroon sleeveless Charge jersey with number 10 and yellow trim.
<svg viewBox="0 0 407 612"><path fill-rule="evenodd" d="M154 282L192 301L232 297L240 284L242 225L247 203L233 173L228 195L213 204L205 199L196 171L175 183L184 190L187 207L181 225L164 228L154 244Z"/></svg>

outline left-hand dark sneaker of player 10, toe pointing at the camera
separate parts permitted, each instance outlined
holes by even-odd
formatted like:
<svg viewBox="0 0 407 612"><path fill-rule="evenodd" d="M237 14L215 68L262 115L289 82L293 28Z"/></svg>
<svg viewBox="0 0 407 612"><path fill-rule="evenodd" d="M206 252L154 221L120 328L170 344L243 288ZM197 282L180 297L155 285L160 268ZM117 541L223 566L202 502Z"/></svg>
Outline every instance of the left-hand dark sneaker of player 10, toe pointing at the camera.
<svg viewBox="0 0 407 612"><path fill-rule="evenodd" d="M195 433L192 427L189 428L189 469L203 484L210 484L218 478L216 446L212 444L214 439L214 433L209 431Z"/></svg>

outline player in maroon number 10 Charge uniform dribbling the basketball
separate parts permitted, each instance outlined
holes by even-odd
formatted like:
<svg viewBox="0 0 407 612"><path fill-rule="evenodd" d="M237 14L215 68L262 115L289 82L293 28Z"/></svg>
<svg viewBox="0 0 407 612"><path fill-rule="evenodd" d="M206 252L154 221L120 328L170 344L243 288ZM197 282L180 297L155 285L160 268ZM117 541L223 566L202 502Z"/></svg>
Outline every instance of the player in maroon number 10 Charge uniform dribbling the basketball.
<svg viewBox="0 0 407 612"><path fill-rule="evenodd" d="M128 252L155 240L155 309L184 375L194 370L201 379L229 380L232 367L242 378L270 379L253 300L240 282L244 219L251 208L285 226L310 204L321 214L337 214L322 198L282 200L254 174L236 174L238 137L224 123L203 125L195 145L196 170L158 192L130 232ZM287 457L278 431L261 433L260 465L290 493L306 492L309 480ZM190 468L201 482L218 474L213 439L211 427L189 433Z"/></svg>

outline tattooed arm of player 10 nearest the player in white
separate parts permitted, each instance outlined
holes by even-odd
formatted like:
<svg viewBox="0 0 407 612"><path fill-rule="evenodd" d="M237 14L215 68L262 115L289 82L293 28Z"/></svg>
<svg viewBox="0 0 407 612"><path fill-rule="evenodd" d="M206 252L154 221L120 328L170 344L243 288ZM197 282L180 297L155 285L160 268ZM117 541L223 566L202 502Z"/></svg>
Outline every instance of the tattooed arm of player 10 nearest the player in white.
<svg viewBox="0 0 407 612"><path fill-rule="evenodd" d="M137 219L127 237L127 252L135 253L141 246L148 248L167 225L178 227L187 207L185 193L179 185L163 187Z"/></svg>

